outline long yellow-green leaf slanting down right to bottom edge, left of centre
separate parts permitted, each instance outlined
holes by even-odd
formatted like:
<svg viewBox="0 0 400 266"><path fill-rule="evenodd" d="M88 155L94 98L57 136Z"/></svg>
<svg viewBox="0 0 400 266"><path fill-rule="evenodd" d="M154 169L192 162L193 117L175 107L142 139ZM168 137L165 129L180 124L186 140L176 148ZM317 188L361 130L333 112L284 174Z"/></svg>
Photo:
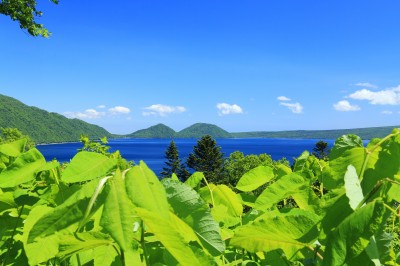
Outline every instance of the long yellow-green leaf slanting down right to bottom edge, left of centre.
<svg viewBox="0 0 400 266"><path fill-rule="evenodd" d="M181 265L213 265L210 259L201 253L196 253L185 242L179 231L157 212L143 208L135 208L136 213L164 247L174 256Z"/></svg>

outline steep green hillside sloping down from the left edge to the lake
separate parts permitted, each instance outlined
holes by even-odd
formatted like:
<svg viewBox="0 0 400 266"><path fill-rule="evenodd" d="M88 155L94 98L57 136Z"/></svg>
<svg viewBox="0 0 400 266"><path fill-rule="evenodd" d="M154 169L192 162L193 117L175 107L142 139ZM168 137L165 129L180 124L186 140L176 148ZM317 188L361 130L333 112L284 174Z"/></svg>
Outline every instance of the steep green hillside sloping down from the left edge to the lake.
<svg viewBox="0 0 400 266"><path fill-rule="evenodd" d="M0 94L0 128L18 128L37 143L78 141L81 134L91 139L111 134L102 127L69 119Z"/></svg>

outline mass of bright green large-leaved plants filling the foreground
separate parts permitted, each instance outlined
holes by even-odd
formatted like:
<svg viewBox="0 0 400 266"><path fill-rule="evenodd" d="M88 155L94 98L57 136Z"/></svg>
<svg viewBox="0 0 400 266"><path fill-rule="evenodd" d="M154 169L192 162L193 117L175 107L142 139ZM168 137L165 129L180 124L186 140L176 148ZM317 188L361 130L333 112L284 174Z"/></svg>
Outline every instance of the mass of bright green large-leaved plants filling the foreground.
<svg viewBox="0 0 400 266"><path fill-rule="evenodd" d="M342 136L327 161L260 165L234 188L201 172L159 181L84 141L66 166L25 138L0 145L0 265L399 263L398 129L366 147Z"/></svg>

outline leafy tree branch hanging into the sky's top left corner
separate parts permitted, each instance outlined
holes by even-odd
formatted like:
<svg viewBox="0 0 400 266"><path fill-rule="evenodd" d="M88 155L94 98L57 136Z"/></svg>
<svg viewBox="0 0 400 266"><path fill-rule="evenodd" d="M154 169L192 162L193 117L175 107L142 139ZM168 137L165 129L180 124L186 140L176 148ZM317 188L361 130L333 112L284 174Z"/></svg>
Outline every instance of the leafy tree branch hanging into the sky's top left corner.
<svg viewBox="0 0 400 266"><path fill-rule="evenodd" d="M58 4L58 0L51 0L51 2ZM20 28L27 30L32 36L48 38L51 34L43 24L36 22L43 13L36 9L35 0L1 0L0 14L18 21Z"/></svg>

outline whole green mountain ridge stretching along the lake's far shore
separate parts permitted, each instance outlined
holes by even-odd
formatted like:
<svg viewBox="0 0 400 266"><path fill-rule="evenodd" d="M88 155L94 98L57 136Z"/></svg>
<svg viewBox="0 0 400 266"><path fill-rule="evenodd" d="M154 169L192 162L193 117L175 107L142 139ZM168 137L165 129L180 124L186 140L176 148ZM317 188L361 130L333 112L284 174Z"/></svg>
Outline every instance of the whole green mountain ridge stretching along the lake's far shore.
<svg viewBox="0 0 400 266"><path fill-rule="evenodd" d="M28 106L17 99L0 94L0 128L14 127L29 135L38 143L78 141L81 134L91 139L104 136L109 138L200 138L211 135L213 138L307 138L336 139L345 134L356 134L363 139L382 138L400 126L366 127L331 130L287 130L228 132L208 123L195 123L181 131L157 124L126 135L111 134L106 129L79 119L48 112Z"/></svg>

